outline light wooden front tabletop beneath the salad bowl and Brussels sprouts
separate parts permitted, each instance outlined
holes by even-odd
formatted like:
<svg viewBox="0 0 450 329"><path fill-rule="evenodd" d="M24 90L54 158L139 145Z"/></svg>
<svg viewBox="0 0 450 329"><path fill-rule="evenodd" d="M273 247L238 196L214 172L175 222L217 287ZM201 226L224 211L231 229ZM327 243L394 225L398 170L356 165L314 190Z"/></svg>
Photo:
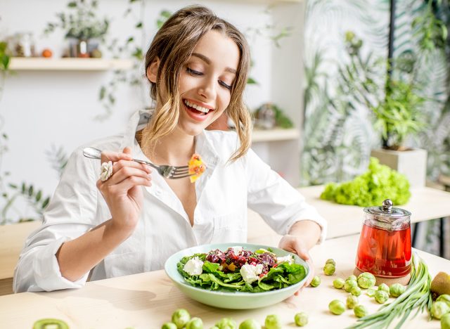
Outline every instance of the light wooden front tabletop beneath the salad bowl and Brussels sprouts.
<svg viewBox="0 0 450 329"><path fill-rule="evenodd" d="M98 280L77 290L23 292L0 297L0 328L31 328L39 318L60 318L70 328L160 328L180 307L187 309L192 316L202 318L205 328L210 328L222 317L232 317L238 323L246 318L255 318L264 324L268 314L278 314L283 328L295 328L293 318L298 311L309 314L309 328L345 328L356 321L353 311L347 309L344 314L335 316L328 311L328 303L333 299L345 302L349 295L344 290L333 288L332 282L335 278L347 278L352 274L358 241L359 236L355 235L316 245L311 256L316 274L321 276L321 285L304 288L299 296L271 307L238 311L208 307L186 297L164 271L154 271ZM266 240L271 245L277 242L276 236ZM450 261L425 252L418 251L418 254L428 264L433 277L438 271L450 272ZM323 264L328 258L337 263L333 276L323 275ZM370 312L380 307L365 292L359 299ZM426 314L419 314L404 328L439 328L439 322L429 322Z"/></svg>

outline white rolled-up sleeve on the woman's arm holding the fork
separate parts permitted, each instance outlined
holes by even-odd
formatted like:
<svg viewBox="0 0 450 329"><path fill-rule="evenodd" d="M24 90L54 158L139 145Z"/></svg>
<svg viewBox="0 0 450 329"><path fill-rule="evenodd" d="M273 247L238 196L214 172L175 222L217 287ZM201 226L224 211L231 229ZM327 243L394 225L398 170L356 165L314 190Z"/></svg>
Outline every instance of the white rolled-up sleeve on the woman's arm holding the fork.
<svg viewBox="0 0 450 329"><path fill-rule="evenodd" d="M56 252L67 240L94 227L96 215L95 160L77 149L70 156L60 183L44 212L44 222L25 241L14 271L14 292L79 288L89 275L72 282L59 269Z"/></svg>

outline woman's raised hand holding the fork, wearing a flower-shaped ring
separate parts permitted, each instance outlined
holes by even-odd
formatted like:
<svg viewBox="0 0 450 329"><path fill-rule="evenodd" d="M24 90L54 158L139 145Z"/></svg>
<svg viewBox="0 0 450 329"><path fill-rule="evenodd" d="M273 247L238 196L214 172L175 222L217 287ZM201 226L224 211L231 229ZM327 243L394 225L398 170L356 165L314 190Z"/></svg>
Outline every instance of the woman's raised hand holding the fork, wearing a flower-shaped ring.
<svg viewBox="0 0 450 329"><path fill-rule="evenodd" d="M98 179L97 188L110 209L113 227L131 234L141 213L141 186L151 186L151 169L132 161L130 148L124 148L123 153L102 152L101 162L108 161L113 162L113 174L106 181Z"/></svg>

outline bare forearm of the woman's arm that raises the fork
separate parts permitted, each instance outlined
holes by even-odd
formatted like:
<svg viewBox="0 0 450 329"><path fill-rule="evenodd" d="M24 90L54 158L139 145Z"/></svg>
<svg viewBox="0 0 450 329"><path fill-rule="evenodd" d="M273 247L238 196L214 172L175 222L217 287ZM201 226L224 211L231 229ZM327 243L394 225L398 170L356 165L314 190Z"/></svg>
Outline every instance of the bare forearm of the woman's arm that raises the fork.
<svg viewBox="0 0 450 329"><path fill-rule="evenodd" d="M127 230L114 227L110 219L61 245L56 253L60 273L70 281L76 281L101 262L120 243L129 237Z"/></svg>

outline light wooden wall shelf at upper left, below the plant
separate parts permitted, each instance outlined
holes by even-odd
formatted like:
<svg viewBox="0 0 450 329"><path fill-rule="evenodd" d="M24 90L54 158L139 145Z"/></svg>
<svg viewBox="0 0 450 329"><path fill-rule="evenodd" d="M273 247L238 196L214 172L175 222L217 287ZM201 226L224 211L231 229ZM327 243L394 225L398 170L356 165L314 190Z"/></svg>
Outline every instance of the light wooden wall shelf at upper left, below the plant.
<svg viewBox="0 0 450 329"><path fill-rule="evenodd" d="M131 60L103 58L11 58L15 71L105 71L129 70Z"/></svg>

